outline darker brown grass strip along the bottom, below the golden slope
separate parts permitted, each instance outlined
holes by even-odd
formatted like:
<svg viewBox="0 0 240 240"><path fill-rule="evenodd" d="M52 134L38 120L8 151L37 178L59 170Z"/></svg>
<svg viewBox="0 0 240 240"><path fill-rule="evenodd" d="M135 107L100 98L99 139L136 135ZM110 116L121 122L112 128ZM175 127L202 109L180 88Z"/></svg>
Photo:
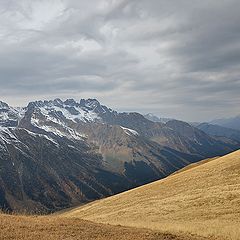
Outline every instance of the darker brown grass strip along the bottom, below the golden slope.
<svg viewBox="0 0 240 240"><path fill-rule="evenodd" d="M103 225L58 216L0 214L1 240L198 240L145 229Z"/></svg>

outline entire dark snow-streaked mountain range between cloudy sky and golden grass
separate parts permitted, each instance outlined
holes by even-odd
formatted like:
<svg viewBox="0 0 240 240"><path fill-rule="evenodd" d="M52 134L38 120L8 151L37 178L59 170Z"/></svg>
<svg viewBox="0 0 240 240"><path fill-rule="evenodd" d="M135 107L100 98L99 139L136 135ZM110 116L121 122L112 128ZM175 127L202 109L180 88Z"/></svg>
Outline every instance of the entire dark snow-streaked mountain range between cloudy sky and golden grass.
<svg viewBox="0 0 240 240"><path fill-rule="evenodd" d="M239 147L180 121L96 99L1 103L0 207L49 212L109 196ZM14 124L13 124L14 123Z"/></svg>

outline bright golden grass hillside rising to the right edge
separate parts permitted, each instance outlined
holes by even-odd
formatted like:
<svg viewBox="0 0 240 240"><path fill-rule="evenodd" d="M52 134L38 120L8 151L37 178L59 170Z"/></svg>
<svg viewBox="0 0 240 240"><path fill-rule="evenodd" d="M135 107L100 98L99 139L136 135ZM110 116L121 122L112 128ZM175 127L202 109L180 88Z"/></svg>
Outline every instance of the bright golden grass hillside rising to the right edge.
<svg viewBox="0 0 240 240"><path fill-rule="evenodd" d="M64 213L99 223L240 239L240 151Z"/></svg>

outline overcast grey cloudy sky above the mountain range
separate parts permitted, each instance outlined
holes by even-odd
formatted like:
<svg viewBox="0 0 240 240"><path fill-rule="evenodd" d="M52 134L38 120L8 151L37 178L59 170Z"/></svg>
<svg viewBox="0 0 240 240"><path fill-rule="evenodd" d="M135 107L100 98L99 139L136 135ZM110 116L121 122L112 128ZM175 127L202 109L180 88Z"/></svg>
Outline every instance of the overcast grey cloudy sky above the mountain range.
<svg viewBox="0 0 240 240"><path fill-rule="evenodd" d="M0 0L0 100L240 113L239 0Z"/></svg>

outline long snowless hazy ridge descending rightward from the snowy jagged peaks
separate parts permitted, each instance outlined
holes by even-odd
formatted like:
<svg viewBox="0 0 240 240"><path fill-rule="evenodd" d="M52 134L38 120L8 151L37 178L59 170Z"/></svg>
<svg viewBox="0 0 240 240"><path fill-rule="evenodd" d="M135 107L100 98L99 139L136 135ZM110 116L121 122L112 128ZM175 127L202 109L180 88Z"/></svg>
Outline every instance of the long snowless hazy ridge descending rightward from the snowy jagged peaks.
<svg viewBox="0 0 240 240"><path fill-rule="evenodd" d="M178 120L166 123L152 122L139 113L106 112L102 119L110 125L120 125L137 131L160 145L198 155L199 159L224 155L237 150L238 142L216 139L190 124Z"/></svg>

